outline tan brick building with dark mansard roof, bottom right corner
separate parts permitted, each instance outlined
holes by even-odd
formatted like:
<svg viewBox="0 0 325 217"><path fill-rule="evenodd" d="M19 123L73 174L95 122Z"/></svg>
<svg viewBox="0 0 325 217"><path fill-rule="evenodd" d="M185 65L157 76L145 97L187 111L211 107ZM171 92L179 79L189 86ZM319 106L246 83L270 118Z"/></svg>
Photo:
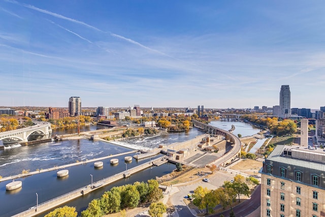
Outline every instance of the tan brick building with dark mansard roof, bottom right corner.
<svg viewBox="0 0 325 217"><path fill-rule="evenodd" d="M324 216L325 152L277 145L261 171L260 216Z"/></svg>

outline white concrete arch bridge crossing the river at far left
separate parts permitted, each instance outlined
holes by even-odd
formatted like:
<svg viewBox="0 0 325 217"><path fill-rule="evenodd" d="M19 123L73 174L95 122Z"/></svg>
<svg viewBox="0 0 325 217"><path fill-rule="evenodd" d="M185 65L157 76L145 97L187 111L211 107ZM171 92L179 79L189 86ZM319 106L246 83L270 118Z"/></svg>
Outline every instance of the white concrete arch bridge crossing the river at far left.
<svg viewBox="0 0 325 217"><path fill-rule="evenodd" d="M30 135L49 135L51 132L51 123L37 122L31 127L0 133L0 144L27 142Z"/></svg>

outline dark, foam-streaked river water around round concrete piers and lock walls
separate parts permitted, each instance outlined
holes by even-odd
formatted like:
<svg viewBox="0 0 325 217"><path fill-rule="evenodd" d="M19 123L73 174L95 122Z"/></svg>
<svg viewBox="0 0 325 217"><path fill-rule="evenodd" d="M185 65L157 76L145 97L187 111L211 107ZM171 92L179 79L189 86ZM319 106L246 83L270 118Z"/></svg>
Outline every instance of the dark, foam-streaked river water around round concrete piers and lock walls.
<svg viewBox="0 0 325 217"><path fill-rule="evenodd" d="M81 132L103 129L103 126L88 126L80 129ZM53 130L52 135L76 133L76 129L60 129ZM182 142L192 139L203 132L192 128L188 132L172 133L162 136L145 137L141 139L125 140L131 145L137 143L137 146L146 148L154 148L159 144L171 144L174 142ZM46 169L54 166L61 166L76 161L84 161L86 159L95 159L111 154L122 153L132 149L113 145L108 142L102 141L88 141L86 139L80 140L67 140L60 142L46 142L41 144L29 146L13 146L0 151L0 175L3 177L20 174L22 170L36 171L37 169ZM132 154L129 154L132 156ZM12 180L0 182L0 201L2 201L2 208L0 209L0 216L11 216L18 212L24 211L29 207L36 205L36 193L38 193L39 204L47 200L66 194L72 190L81 188L91 183L91 176L93 181L101 180L105 177L114 175L125 170L124 157L117 157L119 164L116 166L110 165L110 159L103 160L103 169L95 169L93 163L86 165L73 166L69 169L69 176L67 178L57 178L57 171L49 171L40 173L25 178L17 178L16 180L22 181L22 188L16 191L6 191L6 184ZM156 157L159 157L156 156ZM151 158L152 159L152 158ZM127 168L132 168L140 163L149 161L143 159L140 161L133 161L127 164ZM175 165L164 164L159 167L153 167L134 174L127 179L122 179L107 187L100 188L98 191L92 192L85 197L79 198L67 205L76 206L77 211L80 213L84 210L88 203L94 199L99 198L105 191L109 190L115 185L122 185L125 183L133 183L135 181L147 181L148 179L155 178L170 173L175 169ZM43 215L40 215L43 216Z"/></svg>

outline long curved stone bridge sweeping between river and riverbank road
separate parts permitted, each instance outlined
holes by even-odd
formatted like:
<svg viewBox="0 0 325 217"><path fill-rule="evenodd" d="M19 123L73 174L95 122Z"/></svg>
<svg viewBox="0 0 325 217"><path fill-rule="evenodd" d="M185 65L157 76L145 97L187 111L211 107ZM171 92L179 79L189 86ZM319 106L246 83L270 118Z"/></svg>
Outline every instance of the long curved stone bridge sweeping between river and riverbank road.
<svg viewBox="0 0 325 217"><path fill-rule="evenodd" d="M207 125L206 123L202 123L197 120L192 120L192 122L194 123L195 127L198 127L198 128L201 128L201 129L207 131L207 133L209 133L210 135L221 135L226 140L229 140L231 143L233 143L233 148L229 152L225 153L224 156L222 156L217 161L218 165L230 164L236 158L241 157L241 155L240 155L241 142L237 136L235 136L234 134L232 134L228 131Z"/></svg>

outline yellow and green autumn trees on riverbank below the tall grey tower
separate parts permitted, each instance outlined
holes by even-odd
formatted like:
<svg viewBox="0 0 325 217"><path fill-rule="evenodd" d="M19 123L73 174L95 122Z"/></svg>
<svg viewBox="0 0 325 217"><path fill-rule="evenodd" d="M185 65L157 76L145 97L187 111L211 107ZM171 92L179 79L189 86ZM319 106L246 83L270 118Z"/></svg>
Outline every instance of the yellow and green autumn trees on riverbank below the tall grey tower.
<svg viewBox="0 0 325 217"><path fill-rule="evenodd" d="M297 124L294 120L284 119L278 121L276 117L257 117L256 115L243 115L241 118L248 120L249 122L255 123L256 125L261 125L269 129L272 134L277 136L283 136L285 134L293 134L297 131Z"/></svg>

